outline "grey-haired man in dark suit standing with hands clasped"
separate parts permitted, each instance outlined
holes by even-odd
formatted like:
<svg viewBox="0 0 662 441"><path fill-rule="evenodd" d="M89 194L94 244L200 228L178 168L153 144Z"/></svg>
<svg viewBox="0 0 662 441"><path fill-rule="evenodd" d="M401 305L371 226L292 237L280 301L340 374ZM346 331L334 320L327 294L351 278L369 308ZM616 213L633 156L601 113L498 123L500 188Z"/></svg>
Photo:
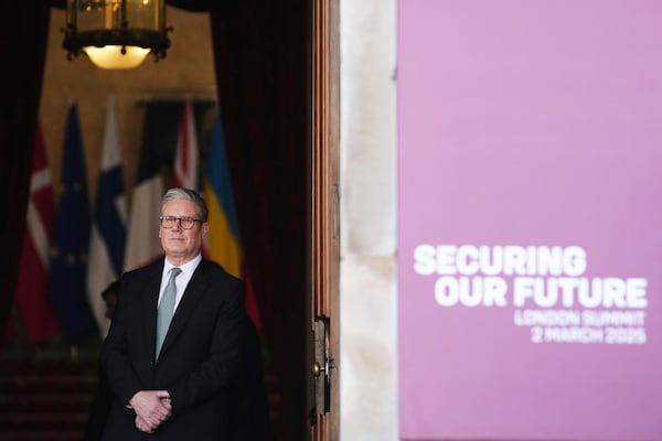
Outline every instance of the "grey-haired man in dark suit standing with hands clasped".
<svg viewBox="0 0 662 441"><path fill-rule="evenodd" d="M196 192L169 190L159 219L166 257L121 277L102 351L115 396L104 440L229 439L236 432L232 401L242 383L242 346L249 331L244 287L202 258L210 226ZM166 300L170 295L173 300ZM174 313L162 311L169 302ZM169 314L159 349L160 322Z"/></svg>

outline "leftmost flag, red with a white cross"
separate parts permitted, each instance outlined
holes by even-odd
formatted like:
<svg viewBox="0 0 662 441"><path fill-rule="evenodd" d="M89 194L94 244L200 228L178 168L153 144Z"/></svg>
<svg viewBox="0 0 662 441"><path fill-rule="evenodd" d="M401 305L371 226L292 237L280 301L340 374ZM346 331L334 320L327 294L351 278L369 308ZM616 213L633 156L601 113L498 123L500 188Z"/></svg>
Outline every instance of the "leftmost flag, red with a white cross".
<svg viewBox="0 0 662 441"><path fill-rule="evenodd" d="M38 344L60 332L46 289L49 247L55 223L55 198L39 123L33 154L28 225L23 237L15 299L28 341Z"/></svg>

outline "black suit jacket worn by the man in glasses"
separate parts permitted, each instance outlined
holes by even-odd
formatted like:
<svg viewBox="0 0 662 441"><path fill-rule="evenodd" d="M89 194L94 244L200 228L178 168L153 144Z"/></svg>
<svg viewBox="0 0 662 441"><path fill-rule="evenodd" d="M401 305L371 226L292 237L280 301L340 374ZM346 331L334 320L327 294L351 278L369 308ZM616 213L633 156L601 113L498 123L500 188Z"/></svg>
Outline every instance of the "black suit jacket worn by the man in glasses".
<svg viewBox="0 0 662 441"><path fill-rule="evenodd" d="M102 351L115 400L104 440L139 440L125 407L139 390L169 391L172 416L147 437L154 440L223 440L232 435L233 397L241 381L246 338L244 287L220 266L199 265L174 313L156 362L157 301L163 260L127 272Z"/></svg>

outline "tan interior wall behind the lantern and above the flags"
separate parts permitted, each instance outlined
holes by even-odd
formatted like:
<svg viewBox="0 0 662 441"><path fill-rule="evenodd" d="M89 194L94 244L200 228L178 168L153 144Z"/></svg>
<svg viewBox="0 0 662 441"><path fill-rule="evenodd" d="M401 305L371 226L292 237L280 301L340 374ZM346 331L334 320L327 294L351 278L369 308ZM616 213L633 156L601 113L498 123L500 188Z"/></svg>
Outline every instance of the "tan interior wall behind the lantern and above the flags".
<svg viewBox="0 0 662 441"><path fill-rule="evenodd" d="M209 13L167 8L171 47L166 58L154 63L149 55L134 69L105 71L85 55L67 60L62 47L65 11L53 8L40 121L52 169L53 182L60 180L65 118L72 99L78 104L83 146L88 171L90 201L102 159L102 142L109 95L117 101L120 154L127 189L132 187L140 153L143 106L151 98L216 98L216 79Z"/></svg>

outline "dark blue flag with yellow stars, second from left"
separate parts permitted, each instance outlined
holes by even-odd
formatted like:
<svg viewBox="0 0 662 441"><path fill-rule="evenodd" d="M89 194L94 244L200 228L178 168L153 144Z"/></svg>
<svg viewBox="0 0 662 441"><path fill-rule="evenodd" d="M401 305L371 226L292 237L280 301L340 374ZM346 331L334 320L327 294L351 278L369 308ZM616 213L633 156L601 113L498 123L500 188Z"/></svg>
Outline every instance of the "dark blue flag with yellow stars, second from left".
<svg viewBox="0 0 662 441"><path fill-rule="evenodd" d="M64 336L78 343L96 332L87 303L87 250L89 249L89 201L78 108L67 111L61 193L51 246L50 293Z"/></svg>

